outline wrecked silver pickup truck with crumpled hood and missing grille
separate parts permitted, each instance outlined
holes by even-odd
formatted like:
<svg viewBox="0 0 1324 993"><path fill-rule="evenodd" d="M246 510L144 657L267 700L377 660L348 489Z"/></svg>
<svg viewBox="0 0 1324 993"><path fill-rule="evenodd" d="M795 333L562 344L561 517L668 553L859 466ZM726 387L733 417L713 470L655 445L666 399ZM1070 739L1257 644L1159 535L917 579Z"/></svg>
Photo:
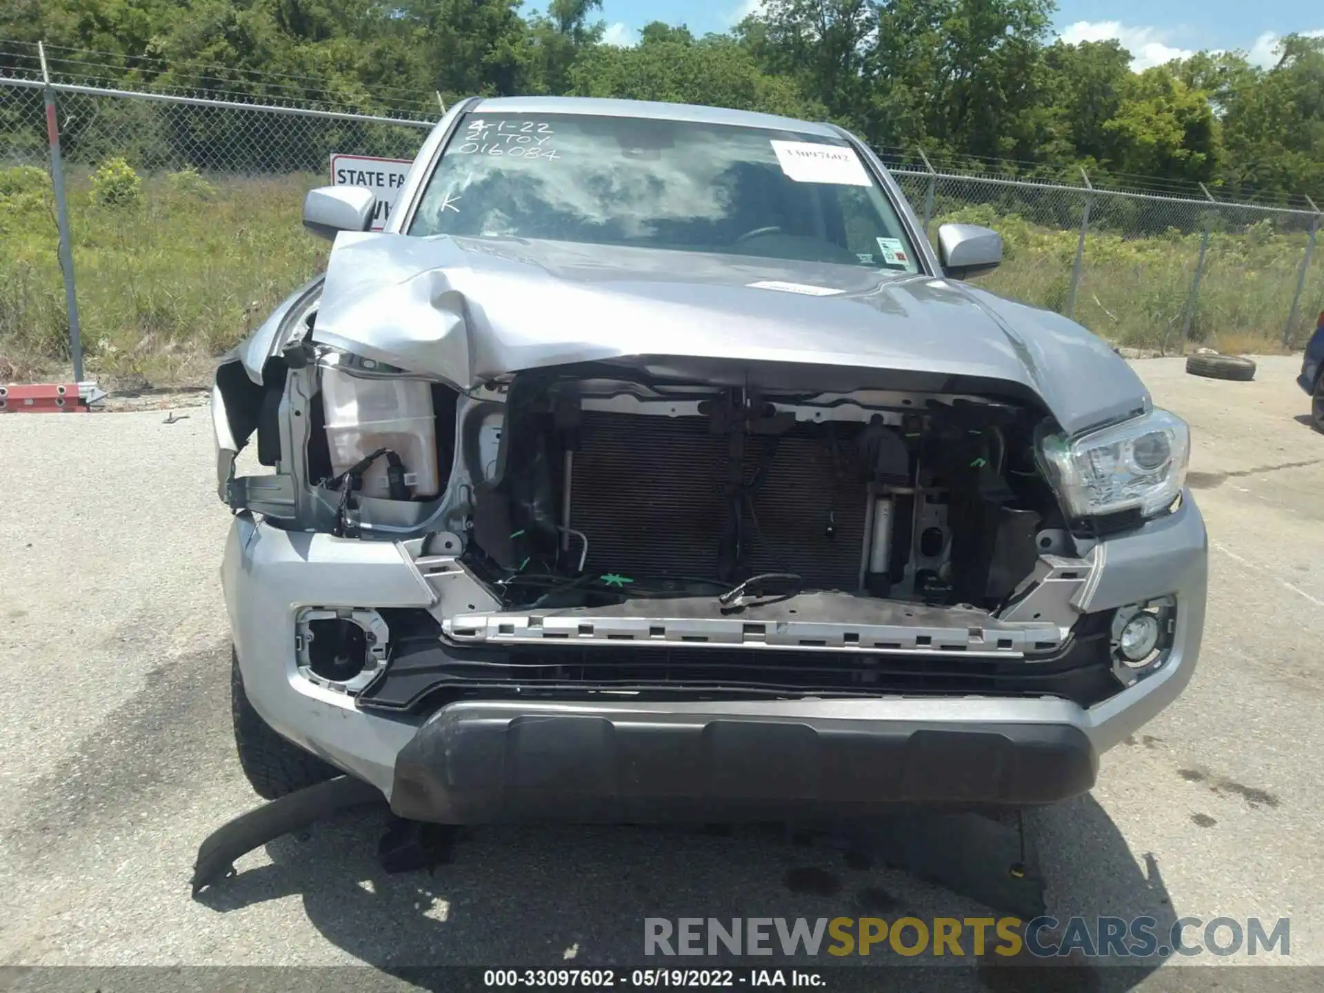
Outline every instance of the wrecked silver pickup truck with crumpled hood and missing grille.
<svg viewBox="0 0 1324 993"><path fill-rule="evenodd" d="M1190 679L1189 434L831 124L474 98L220 365L234 731L437 824L1031 805ZM236 457L256 437L257 462Z"/></svg>

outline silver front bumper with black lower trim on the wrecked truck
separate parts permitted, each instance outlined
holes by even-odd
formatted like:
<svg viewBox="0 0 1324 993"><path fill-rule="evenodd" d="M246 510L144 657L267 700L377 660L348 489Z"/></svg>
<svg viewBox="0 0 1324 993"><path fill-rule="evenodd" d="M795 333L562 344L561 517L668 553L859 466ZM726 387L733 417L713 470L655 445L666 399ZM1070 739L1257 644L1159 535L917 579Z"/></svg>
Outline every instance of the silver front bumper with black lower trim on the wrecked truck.
<svg viewBox="0 0 1324 993"><path fill-rule="evenodd" d="M886 802L1042 804L1088 789L1098 756L1190 681L1205 617L1207 543L1189 493L1172 516L1104 547L1082 609L1174 594L1177 622L1161 669L1090 707L1050 696L902 694L462 700L428 719L368 712L299 674L295 614L316 605L421 608L438 618L474 609L453 602L453 575L424 576L399 544L283 531L241 514L222 584L258 714L376 785L401 814L444 822L763 818Z"/></svg>

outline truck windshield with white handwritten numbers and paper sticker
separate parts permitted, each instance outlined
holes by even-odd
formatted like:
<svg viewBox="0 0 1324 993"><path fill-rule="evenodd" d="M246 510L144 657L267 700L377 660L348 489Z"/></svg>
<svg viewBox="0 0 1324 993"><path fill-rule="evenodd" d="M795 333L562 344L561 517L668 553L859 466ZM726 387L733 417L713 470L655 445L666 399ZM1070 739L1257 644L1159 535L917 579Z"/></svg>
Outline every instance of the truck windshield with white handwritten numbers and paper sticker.
<svg viewBox="0 0 1324 993"><path fill-rule="evenodd" d="M896 211L845 139L687 120L466 115L409 233L918 271Z"/></svg>

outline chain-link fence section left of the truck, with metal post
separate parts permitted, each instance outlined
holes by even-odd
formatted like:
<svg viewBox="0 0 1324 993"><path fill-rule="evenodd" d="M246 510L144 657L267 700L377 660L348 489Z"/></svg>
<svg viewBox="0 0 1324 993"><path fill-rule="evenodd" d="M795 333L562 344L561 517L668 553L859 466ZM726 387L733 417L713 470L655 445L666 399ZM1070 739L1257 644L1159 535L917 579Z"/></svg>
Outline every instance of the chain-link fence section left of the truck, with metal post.
<svg viewBox="0 0 1324 993"><path fill-rule="evenodd" d="M432 123L82 85L57 105L87 367L188 379L326 262L299 222L332 154L412 159ZM71 360L46 87L0 78L0 380ZM74 363L75 367L78 363Z"/></svg>

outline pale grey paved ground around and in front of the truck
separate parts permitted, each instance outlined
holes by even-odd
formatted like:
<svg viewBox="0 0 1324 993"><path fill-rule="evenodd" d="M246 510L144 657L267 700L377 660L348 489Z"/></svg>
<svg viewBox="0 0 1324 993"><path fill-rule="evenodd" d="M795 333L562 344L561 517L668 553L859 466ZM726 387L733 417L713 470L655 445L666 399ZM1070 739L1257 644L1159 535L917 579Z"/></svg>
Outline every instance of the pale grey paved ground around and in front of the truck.
<svg viewBox="0 0 1324 993"><path fill-rule="evenodd" d="M1209 625L1186 694L1090 796L1029 818L1058 916L1291 916L1291 961L1324 964L1324 436L1298 363L1253 383L1133 363L1194 433ZM388 876L375 810L191 899L197 843L256 797L229 731L228 515L207 410L185 413L0 417L0 965L585 965L634 960L645 915L986 912L756 830L483 829Z"/></svg>

